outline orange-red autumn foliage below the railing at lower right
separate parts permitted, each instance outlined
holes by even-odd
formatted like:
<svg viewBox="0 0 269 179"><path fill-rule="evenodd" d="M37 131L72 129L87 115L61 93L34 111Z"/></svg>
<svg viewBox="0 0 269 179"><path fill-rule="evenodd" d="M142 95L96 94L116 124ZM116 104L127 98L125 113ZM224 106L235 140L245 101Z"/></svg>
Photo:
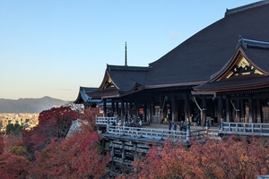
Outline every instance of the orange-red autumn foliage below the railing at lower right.
<svg viewBox="0 0 269 179"><path fill-rule="evenodd" d="M256 178L269 174L268 144L266 138L242 136L194 141L190 148L167 141L163 149L152 148L135 161L127 178Z"/></svg>

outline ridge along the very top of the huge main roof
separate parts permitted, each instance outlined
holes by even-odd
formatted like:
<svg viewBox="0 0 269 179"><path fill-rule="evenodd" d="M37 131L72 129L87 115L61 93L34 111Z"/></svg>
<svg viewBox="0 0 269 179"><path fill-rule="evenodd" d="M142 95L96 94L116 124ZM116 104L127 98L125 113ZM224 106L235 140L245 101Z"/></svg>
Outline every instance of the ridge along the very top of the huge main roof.
<svg viewBox="0 0 269 179"><path fill-rule="evenodd" d="M225 17L229 16L229 15L233 15L234 13L241 13L241 12L246 11L248 9L263 6L265 4L269 4L269 0L258 1L256 3L252 3L252 4L242 5L242 6L239 6L236 8L232 8L232 9L226 9Z"/></svg>

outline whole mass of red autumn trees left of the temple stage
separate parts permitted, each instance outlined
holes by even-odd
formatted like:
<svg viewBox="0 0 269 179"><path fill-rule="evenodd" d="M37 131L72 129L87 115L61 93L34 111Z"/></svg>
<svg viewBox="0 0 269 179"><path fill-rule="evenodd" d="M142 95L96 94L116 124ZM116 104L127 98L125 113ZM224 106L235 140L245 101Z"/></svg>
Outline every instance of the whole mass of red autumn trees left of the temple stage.
<svg viewBox="0 0 269 179"><path fill-rule="evenodd" d="M33 130L0 136L0 178L100 178L107 172L109 155L101 154L95 113L52 108L40 113ZM78 117L81 129L66 137Z"/></svg>

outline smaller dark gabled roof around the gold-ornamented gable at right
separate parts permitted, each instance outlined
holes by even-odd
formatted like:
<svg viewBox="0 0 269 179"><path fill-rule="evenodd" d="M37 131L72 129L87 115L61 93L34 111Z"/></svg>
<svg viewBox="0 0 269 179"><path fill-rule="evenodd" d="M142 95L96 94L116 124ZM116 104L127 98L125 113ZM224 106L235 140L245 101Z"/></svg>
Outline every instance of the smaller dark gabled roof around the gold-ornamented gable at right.
<svg viewBox="0 0 269 179"><path fill-rule="evenodd" d="M251 90L259 88L269 87L269 42L257 41L247 38L239 38L239 43L237 45L240 52L247 55L247 60L259 68L259 71L265 72L265 74L251 74L251 75L241 75L233 76L229 79L221 79L218 81L215 76L225 72L225 69L230 65L234 64L237 58L231 58L230 61L225 64L221 71L215 73L211 80L194 87L198 91L227 91L227 90ZM238 53L238 52L237 52ZM237 55L235 53L235 55ZM229 68L228 68L229 69Z"/></svg>

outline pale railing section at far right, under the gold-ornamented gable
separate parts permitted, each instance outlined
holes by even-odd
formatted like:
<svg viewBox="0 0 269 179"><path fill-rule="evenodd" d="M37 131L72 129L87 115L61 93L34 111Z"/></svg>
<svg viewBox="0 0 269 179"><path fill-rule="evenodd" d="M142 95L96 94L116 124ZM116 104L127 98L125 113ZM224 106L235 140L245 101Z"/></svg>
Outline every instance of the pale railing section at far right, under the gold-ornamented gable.
<svg viewBox="0 0 269 179"><path fill-rule="evenodd" d="M269 136L269 124L221 122L221 133Z"/></svg>

